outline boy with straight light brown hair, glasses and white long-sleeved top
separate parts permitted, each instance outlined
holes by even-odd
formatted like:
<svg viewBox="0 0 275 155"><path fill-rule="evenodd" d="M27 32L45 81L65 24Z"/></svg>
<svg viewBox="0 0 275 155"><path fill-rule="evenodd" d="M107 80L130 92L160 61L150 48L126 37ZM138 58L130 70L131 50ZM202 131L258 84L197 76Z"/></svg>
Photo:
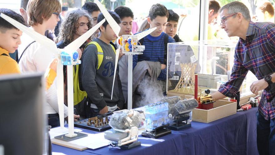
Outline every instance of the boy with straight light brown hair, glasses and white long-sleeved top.
<svg viewBox="0 0 275 155"><path fill-rule="evenodd" d="M54 29L59 21L61 4L58 0L30 0L27 5L28 25L39 34L45 35L46 30ZM22 44L18 48L19 67L22 72L45 72L53 58L52 52L43 45L34 42L27 34L22 35ZM60 125L58 117L58 100L56 83L46 92L46 114L48 124L52 127ZM64 106L64 116L68 116L68 107ZM78 118L79 115L75 115Z"/></svg>

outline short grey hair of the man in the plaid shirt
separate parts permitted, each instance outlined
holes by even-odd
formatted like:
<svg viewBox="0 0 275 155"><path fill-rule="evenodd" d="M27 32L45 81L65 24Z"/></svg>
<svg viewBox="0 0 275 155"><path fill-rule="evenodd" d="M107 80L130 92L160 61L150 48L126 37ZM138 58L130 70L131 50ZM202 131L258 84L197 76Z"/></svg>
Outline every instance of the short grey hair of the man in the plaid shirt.
<svg viewBox="0 0 275 155"><path fill-rule="evenodd" d="M250 13L248 8L242 3L242 2L231 2L228 3L226 5L224 5L220 10L219 13L222 12L222 10L227 10L228 14L233 14L233 13L242 13L242 16L247 20L250 21L251 17L250 17ZM236 15L234 15L236 16ZM233 16L233 17L234 17Z"/></svg>

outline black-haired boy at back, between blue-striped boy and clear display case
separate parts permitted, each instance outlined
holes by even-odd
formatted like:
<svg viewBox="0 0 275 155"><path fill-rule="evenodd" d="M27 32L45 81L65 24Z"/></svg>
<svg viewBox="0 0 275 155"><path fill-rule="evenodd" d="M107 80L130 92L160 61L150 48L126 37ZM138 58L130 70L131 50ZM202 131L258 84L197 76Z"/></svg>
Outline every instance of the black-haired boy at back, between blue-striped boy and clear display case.
<svg viewBox="0 0 275 155"><path fill-rule="evenodd" d="M169 16L168 20L164 29L164 32L168 34L170 37L175 39L175 42L182 42L179 38L177 31L178 31L178 19L179 16L173 10L168 10Z"/></svg>

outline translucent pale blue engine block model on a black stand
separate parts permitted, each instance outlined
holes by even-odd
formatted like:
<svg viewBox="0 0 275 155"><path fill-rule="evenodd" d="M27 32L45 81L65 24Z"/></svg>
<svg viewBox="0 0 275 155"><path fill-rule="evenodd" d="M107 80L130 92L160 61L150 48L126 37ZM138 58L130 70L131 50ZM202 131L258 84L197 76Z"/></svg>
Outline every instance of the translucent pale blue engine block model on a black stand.
<svg viewBox="0 0 275 155"><path fill-rule="evenodd" d="M146 132L143 137L159 138L171 133L169 126L168 102L157 102L145 106Z"/></svg>

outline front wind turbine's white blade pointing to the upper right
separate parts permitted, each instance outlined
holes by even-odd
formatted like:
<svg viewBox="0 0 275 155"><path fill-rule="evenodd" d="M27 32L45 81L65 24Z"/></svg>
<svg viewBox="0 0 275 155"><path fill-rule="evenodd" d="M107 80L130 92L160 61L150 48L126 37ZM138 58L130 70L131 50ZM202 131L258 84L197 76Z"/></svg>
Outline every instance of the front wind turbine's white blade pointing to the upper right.
<svg viewBox="0 0 275 155"><path fill-rule="evenodd" d="M89 39L96 30L106 21L106 19L103 19L98 24L96 24L93 28L89 29L85 34L78 37L78 39L75 39L72 43L68 44L63 50L66 52L69 51L76 51L87 39Z"/></svg>

